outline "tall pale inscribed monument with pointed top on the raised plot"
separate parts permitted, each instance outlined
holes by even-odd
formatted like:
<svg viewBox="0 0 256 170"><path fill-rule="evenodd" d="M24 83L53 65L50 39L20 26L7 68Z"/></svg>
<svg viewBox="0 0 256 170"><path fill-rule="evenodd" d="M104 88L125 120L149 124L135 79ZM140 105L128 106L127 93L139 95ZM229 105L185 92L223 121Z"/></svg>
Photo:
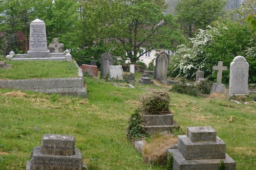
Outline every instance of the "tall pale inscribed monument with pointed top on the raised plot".
<svg viewBox="0 0 256 170"><path fill-rule="evenodd" d="M35 19L30 23L28 57L50 57L50 51L47 49L46 25L45 22L40 19Z"/></svg>

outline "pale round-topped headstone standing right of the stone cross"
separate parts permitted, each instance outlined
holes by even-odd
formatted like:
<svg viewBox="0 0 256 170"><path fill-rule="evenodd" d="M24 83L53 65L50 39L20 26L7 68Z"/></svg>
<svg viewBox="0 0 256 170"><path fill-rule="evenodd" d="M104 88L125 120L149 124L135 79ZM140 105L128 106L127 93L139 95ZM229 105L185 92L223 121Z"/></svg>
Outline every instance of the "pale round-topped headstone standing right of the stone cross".
<svg viewBox="0 0 256 170"><path fill-rule="evenodd" d="M230 63L229 95L246 95L248 90L249 64L242 56L237 56Z"/></svg>

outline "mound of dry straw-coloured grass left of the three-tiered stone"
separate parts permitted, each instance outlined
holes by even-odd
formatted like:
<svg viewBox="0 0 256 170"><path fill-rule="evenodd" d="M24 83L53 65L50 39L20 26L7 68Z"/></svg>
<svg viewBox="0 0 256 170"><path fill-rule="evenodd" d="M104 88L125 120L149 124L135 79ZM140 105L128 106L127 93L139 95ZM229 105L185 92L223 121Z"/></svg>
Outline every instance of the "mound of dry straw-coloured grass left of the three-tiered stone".
<svg viewBox="0 0 256 170"><path fill-rule="evenodd" d="M176 143L177 138L170 135L156 137L143 147L142 156L144 162L163 164L167 160L166 150Z"/></svg>

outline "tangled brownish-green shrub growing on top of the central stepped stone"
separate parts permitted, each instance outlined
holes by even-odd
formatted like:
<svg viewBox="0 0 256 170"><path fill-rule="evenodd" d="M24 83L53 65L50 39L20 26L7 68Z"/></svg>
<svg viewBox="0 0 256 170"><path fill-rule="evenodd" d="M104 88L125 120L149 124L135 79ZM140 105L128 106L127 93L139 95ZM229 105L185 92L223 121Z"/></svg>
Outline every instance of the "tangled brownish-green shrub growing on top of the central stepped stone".
<svg viewBox="0 0 256 170"><path fill-rule="evenodd" d="M140 101L142 105L140 110L142 114L151 114L154 111L169 112L170 93L165 90L152 90L141 94Z"/></svg>

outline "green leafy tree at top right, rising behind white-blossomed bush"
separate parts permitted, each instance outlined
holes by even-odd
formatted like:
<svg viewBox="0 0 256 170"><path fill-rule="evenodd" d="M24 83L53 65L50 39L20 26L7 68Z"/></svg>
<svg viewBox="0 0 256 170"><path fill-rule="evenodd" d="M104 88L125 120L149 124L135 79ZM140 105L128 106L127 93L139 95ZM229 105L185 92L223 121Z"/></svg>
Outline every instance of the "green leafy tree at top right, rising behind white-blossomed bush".
<svg viewBox="0 0 256 170"><path fill-rule="evenodd" d="M223 0L181 0L175 7L178 22L188 37L194 37L198 29L205 29L222 15Z"/></svg>

